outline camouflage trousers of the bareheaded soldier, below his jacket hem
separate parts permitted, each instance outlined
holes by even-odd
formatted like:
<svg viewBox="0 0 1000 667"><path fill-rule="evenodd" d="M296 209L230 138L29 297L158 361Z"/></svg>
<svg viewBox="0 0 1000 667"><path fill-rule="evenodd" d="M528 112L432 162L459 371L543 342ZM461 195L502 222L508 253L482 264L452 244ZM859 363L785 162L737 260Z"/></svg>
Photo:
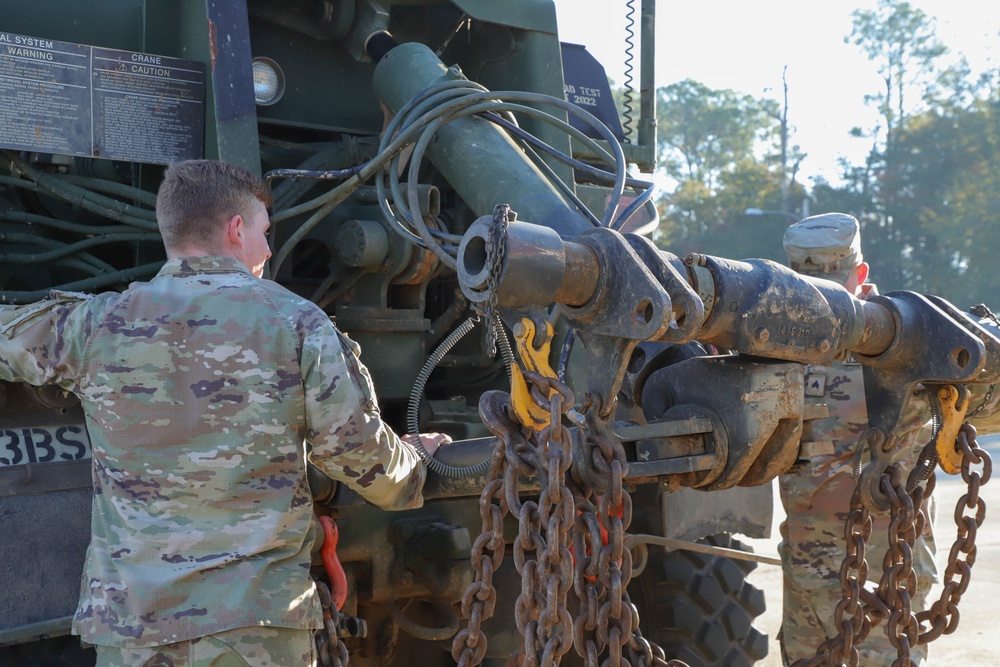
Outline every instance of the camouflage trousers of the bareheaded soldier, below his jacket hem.
<svg viewBox="0 0 1000 667"><path fill-rule="evenodd" d="M95 646L96 667L315 667L313 630L235 628L190 641L119 648Z"/></svg>

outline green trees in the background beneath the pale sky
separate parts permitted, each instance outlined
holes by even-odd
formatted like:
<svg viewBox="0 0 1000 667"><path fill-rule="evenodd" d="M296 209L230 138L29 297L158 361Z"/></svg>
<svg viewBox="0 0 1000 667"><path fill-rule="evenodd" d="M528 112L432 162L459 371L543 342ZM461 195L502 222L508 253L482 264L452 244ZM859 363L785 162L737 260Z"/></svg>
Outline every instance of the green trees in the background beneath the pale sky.
<svg viewBox="0 0 1000 667"><path fill-rule="evenodd" d="M947 61L934 20L908 2L855 10L845 41L884 87L866 102L873 127L860 164L842 160L837 184L798 169L784 101L714 90L692 80L657 91L658 170L676 183L661 198L654 239L689 251L784 262L780 239L803 213L850 213L883 291L913 290L1000 311L1000 68L973 72ZM747 208L784 211L748 220Z"/></svg>

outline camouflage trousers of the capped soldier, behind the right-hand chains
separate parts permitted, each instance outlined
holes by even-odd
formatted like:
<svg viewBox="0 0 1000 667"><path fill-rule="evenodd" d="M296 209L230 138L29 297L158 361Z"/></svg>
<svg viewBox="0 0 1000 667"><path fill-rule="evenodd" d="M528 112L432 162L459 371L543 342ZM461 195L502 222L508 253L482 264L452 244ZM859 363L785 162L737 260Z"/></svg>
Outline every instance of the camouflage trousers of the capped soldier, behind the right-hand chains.
<svg viewBox="0 0 1000 667"><path fill-rule="evenodd" d="M930 507L924 507L931 520L913 547L913 571L917 579L917 590L911 596L913 611L927 608L928 595L938 581L936 547L930 528L933 500ZM820 643L837 634L834 610L843 598L839 573L846 555L844 519L845 514L839 512L812 513L806 517L792 514L781 524L782 541L778 550L784 574L784 595L779 637L785 665L813 657ZM882 576L882 558L888 549L888 516L873 519L872 535L865 553L869 568L866 587L870 590L878 585ZM890 667L896 660L897 651L889 642L886 626L885 622L881 623L858 647L860 664L864 667ZM912 648L910 658L915 666L925 665L927 647Z"/></svg>

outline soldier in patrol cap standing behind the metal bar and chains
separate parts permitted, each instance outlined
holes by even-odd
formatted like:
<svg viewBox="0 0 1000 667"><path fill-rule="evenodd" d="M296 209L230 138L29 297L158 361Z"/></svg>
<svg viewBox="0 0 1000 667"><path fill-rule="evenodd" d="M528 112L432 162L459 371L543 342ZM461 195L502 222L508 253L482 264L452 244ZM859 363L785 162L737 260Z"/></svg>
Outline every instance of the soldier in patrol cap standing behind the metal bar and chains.
<svg viewBox="0 0 1000 667"><path fill-rule="evenodd" d="M799 273L833 280L862 299L876 293L874 285L866 283L868 265L862 261L860 230L854 217L828 213L806 218L788 228L784 246L789 266ZM829 417L812 422L812 439L803 443L806 460L778 481L787 515L778 547L784 571L779 637L786 665L813 657L824 639L837 635L834 609L843 597L839 573L846 555L844 522L856 487L852 459L858 437L868 427L864 379L857 362L848 359L831 367L807 366L805 371L806 404L825 404ZM930 439L930 429L922 429L929 419L926 406L925 398L914 397L900 417L897 433L904 471L913 467ZM929 508L924 509L931 518ZM888 548L888 515L873 518L867 550L868 581L877 584ZM926 607L930 588L938 580L932 523L926 523L914 544L914 611ZM888 667L897 658L884 624L872 631L859 653L865 667ZM911 650L914 665L923 664L926 655L926 646Z"/></svg>

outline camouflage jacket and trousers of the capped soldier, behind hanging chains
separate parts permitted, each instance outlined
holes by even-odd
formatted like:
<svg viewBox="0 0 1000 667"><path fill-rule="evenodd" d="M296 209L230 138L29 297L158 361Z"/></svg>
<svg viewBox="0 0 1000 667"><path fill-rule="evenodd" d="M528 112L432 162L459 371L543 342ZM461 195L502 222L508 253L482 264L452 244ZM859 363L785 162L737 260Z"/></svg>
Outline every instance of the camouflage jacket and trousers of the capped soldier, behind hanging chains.
<svg viewBox="0 0 1000 667"><path fill-rule="evenodd" d="M781 646L786 664L813 657L824 639L837 634L834 610L843 597L839 575L846 555L844 522L856 486L851 476L854 446L868 427L861 366L856 362L807 366L806 404L827 405L830 416L812 422L813 439L832 443L833 454L799 464L779 477L781 502L787 514L778 546L784 573ZM925 398L915 396L900 418L899 447L903 450L898 460L905 471L913 467L920 449L930 439L931 430L921 428L929 418L926 405ZM924 509L933 519L933 508ZM886 514L873 518L866 552L869 587L878 584L882 557L888 549L889 517ZM933 520L914 544L914 611L926 608L930 588L938 581L932 525ZM896 660L897 651L889 643L884 623L868 635L859 653L865 667L888 666ZM911 651L914 665L921 664L925 657L926 646Z"/></svg>

